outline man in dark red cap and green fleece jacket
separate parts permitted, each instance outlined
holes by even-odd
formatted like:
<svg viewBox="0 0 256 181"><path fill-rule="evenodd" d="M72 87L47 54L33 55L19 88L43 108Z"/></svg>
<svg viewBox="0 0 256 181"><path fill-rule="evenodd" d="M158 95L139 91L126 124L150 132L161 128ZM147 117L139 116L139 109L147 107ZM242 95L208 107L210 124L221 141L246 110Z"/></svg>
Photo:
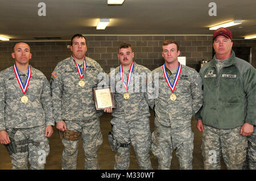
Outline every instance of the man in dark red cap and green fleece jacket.
<svg viewBox="0 0 256 181"><path fill-rule="evenodd" d="M204 169L220 169L221 155L228 169L242 169L247 137L255 125L256 71L235 56L232 32L218 28L213 33L213 60L200 70L204 104L196 114L203 131Z"/></svg>

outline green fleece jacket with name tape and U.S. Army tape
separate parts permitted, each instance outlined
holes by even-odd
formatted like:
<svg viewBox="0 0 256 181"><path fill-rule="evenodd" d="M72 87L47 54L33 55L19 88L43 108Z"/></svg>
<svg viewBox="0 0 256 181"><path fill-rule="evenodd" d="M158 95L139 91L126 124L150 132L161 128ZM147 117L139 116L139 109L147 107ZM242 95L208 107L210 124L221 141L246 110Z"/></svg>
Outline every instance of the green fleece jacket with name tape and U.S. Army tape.
<svg viewBox="0 0 256 181"><path fill-rule="evenodd" d="M232 50L224 67L217 73L213 60L200 70L204 103L196 119L218 129L236 128L244 123L255 125L256 70L237 58Z"/></svg>

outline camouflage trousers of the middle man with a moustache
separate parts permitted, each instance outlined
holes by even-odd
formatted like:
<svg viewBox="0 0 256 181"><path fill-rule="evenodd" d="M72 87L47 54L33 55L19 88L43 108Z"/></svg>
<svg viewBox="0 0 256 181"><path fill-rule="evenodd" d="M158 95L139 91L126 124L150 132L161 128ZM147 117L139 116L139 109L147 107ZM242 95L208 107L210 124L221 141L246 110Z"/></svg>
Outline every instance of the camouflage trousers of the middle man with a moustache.
<svg viewBox="0 0 256 181"><path fill-rule="evenodd" d="M152 169L150 161L151 133L148 117L138 120L112 119L114 140L133 145L140 169ZM115 170L127 170L130 165L130 148L119 147L115 153Z"/></svg>

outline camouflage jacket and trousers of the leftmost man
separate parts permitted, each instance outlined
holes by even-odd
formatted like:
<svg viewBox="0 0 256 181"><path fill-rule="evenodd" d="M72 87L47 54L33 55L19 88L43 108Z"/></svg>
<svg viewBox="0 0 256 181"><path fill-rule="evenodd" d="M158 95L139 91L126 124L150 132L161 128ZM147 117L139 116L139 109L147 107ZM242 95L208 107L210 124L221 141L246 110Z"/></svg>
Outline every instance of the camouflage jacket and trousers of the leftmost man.
<svg viewBox="0 0 256 181"><path fill-rule="evenodd" d="M19 75L24 85L27 74L19 72ZM27 160L30 162L30 169L44 169L44 159L49 154L49 142L44 133L47 125L54 125L51 89L44 74L32 66L25 95L28 102L22 103L20 98L23 92L15 77L14 68L1 71L0 131L5 130L17 147L26 148L11 154L13 169L27 169ZM18 144L19 141L23 144Z"/></svg>

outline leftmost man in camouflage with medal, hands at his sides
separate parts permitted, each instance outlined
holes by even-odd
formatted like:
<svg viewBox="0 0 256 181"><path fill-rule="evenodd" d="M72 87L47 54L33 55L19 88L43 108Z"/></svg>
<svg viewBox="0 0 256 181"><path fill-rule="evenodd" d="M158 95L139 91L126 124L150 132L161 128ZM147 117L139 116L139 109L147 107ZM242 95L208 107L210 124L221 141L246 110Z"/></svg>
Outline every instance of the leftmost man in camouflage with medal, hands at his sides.
<svg viewBox="0 0 256 181"><path fill-rule="evenodd" d="M11 156L12 169L44 169L53 133L49 82L28 64L30 47L19 42L14 66L0 73L0 142Z"/></svg>

